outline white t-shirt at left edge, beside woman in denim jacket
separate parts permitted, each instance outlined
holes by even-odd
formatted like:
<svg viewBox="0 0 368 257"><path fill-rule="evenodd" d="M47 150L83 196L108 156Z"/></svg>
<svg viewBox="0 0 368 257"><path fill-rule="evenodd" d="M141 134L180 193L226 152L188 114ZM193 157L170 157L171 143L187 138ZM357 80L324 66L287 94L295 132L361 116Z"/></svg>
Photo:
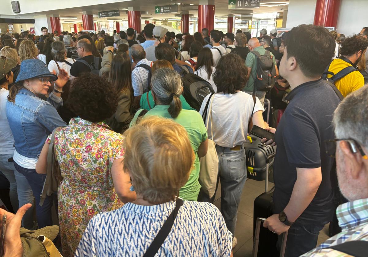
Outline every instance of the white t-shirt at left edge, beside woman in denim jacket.
<svg viewBox="0 0 368 257"><path fill-rule="evenodd" d="M8 119L6 117L6 98L9 91L5 88L0 90L0 154L13 154L14 137L11 133Z"/></svg>

